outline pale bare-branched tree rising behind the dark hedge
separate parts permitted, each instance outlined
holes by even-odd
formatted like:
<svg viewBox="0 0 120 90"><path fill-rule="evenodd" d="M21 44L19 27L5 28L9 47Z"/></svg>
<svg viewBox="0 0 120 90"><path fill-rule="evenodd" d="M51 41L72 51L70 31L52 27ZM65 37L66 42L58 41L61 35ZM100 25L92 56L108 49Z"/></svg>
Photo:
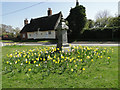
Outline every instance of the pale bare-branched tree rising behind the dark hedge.
<svg viewBox="0 0 120 90"><path fill-rule="evenodd" d="M96 14L95 27L106 27L109 19L110 15L107 10L98 12Z"/></svg>

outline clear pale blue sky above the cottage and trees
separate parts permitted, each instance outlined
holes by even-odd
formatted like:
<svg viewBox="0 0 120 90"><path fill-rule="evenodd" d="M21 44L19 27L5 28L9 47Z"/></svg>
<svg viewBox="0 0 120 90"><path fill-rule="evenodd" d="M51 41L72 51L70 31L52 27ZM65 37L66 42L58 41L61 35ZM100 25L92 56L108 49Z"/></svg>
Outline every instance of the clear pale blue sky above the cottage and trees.
<svg viewBox="0 0 120 90"><path fill-rule="evenodd" d="M39 0L38 0L39 1ZM69 0L69 1L62 1L61 2L55 2L54 1L45 1L42 0L40 2L38 1L27 1L27 2L18 2L15 0L2 1L2 13L0 13L0 18L2 18L2 24L11 25L14 28L19 27L22 29L24 26L24 19L27 18L29 21L31 18L39 18L43 16L47 16L47 10L48 8L52 9L52 14L59 13L62 11L63 18L66 18L69 15L69 11L72 8L75 7L76 0ZM57 1L57 0L56 0ZM86 8L86 16L87 19L93 19L95 20L95 16L98 12L107 10L111 16L115 16L115 14L118 14L118 1L117 0L109 0L104 2L105 0L101 0L99 2L95 2L94 0L88 1L88 0L79 0L79 4L83 5ZM26 8L32 6L30 8ZM20 10L20 11L19 11ZM15 12L18 11L18 12Z"/></svg>

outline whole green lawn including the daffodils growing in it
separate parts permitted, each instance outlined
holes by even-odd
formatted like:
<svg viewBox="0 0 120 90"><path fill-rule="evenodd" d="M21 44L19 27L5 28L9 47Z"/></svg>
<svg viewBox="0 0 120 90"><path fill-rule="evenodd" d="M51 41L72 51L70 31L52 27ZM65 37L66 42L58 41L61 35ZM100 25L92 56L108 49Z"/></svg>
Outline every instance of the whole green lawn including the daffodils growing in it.
<svg viewBox="0 0 120 90"><path fill-rule="evenodd" d="M3 47L3 87L118 87L118 47L71 49L55 53L52 47Z"/></svg>

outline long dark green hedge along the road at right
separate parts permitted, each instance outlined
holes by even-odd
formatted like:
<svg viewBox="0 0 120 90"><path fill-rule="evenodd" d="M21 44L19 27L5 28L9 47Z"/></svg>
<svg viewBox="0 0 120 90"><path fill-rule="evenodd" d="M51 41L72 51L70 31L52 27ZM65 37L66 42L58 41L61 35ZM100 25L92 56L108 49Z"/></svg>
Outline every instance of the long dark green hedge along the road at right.
<svg viewBox="0 0 120 90"><path fill-rule="evenodd" d="M84 32L78 36L72 34L69 36L69 39L75 40L119 40L119 38L120 27L84 29Z"/></svg>

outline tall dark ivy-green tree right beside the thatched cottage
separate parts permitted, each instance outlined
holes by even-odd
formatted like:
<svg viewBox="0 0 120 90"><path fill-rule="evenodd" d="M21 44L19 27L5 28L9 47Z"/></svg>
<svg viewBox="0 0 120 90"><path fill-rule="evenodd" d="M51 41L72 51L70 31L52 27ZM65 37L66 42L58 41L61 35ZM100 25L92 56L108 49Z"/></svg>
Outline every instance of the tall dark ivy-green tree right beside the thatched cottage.
<svg viewBox="0 0 120 90"><path fill-rule="evenodd" d="M86 24L85 7L77 5L75 8L71 8L66 20L68 21L70 30L72 30L72 35L78 36Z"/></svg>

